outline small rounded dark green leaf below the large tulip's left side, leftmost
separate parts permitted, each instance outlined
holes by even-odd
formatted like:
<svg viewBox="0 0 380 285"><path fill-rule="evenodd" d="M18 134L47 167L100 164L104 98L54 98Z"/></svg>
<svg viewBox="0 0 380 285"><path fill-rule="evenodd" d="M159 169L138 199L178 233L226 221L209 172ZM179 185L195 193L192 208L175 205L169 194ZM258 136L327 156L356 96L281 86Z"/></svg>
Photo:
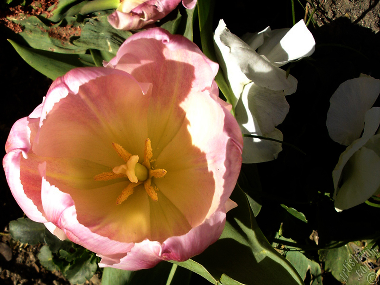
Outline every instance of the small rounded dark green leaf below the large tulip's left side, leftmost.
<svg viewBox="0 0 380 285"><path fill-rule="evenodd" d="M23 244L38 244L44 241L45 226L29 218L18 218L9 223L11 236Z"/></svg>

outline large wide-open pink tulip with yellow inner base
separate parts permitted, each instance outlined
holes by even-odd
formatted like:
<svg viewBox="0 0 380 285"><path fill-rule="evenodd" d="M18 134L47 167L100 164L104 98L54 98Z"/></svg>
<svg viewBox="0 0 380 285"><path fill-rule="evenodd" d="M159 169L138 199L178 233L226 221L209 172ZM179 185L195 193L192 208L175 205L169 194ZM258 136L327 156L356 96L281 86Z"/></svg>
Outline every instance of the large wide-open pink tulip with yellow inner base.
<svg viewBox="0 0 380 285"><path fill-rule="evenodd" d="M242 136L218 65L183 36L136 33L106 67L57 78L18 120L3 166L25 214L138 270L184 261L223 231Z"/></svg>

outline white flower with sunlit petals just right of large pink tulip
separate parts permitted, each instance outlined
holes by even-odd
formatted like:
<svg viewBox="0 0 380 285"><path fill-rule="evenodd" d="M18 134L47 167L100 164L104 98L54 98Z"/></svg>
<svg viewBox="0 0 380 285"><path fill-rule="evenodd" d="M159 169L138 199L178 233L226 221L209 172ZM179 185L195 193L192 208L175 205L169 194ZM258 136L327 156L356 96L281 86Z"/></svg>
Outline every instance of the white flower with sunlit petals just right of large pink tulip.
<svg viewBox="0 0 380 285"><path fill-rule="evenodd" d="M297 80L279 67L313 53L315 41L304 22L273 31L268 27L240 39L221 20L214 41L242 133L282 140L275 127L289 111L285 95L296 92ZM273 160L281 150L278 142L245 137L243 163Z"/></svg>

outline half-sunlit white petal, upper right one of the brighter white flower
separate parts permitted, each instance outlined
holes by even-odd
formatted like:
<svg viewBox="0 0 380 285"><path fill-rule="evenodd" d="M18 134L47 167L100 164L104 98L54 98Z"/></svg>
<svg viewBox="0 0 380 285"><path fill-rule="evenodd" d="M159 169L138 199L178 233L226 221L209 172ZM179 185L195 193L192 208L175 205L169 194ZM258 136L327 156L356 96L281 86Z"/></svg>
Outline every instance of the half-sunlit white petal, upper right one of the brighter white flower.
<svg viewBox="0 0 380 285"><path fill-rule="evenodd" d="M301 20L291 29L273 30L271 37L264 40L257 52L265 55L274 65L281 66L291 60L309 56L314 50L313 35Z"/></svg>

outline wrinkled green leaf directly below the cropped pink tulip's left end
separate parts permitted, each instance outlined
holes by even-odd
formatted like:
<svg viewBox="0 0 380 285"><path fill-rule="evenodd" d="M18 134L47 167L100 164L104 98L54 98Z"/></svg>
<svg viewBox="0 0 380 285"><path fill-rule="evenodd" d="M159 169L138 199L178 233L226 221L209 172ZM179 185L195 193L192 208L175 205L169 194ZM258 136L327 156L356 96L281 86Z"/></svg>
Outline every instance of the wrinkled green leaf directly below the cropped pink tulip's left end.
<svg viewBox="0 0 380 285"><path fill-rule="evenodd" d="M73 44L86 49L98 49L116 55L120 45L132 33L116 30L107 21L107 16L93 17L83 26L81 36Z"/></svg>

